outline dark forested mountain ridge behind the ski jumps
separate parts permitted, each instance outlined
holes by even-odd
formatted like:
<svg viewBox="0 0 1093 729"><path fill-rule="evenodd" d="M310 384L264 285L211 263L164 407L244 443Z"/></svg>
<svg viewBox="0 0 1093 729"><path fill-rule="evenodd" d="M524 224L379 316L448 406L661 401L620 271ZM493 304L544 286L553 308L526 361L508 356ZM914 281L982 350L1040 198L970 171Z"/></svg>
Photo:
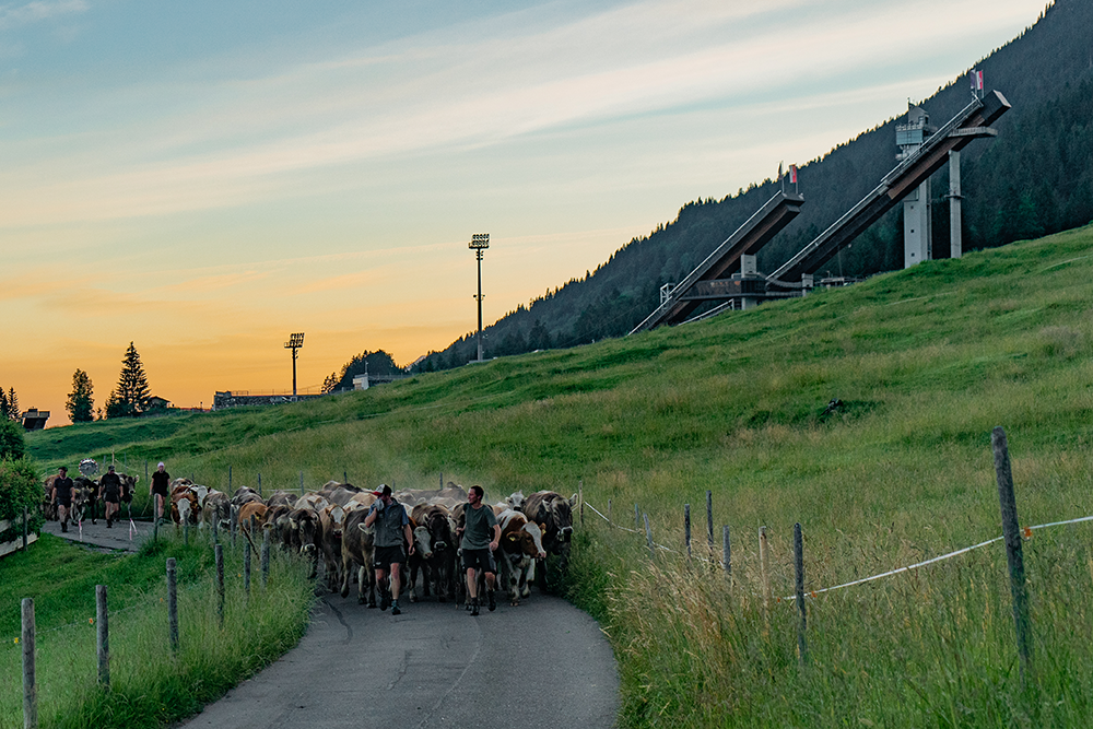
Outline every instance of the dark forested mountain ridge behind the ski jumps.
<svg viewBox="0 0 1093 729"><path fill-rule="evenodd" d="M1056 0L1039 21L968 66L1013 105L962 153L964 250L1077 227L1093 221L1093 2ZM935 126L971 101L967 70L919 105ZM895 164L892 118L800 168L801 214L759 255L773 271L872 190ZM596 271L520 305L484 330L487 357L564 348L630 331L680 281L774 195L769 179L721 200L686 203L677 219L634 238ZM932 178L933 256L949 255L948 167ZM832 273L868 275L903 266L902 205L828 263ZM820 271L823 273L823 271ZM473 332L414 365L431 372L475 355Z"/></svg>

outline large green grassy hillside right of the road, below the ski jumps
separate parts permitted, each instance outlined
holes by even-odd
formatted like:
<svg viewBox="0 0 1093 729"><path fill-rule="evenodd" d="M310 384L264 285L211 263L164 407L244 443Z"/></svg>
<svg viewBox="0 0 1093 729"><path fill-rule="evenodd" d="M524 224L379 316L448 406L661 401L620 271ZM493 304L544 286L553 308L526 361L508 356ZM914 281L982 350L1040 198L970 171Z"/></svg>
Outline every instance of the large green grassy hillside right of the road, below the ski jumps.
<svg viewBox="0 0 1093 729"><path fill-rule="evenodd" d="M422 375L267 410L33 434L46 466L101 455L167 461L226 486L340 479L481 483L569 494L682 544L682 505L714 492L733 577L662 557L589 521L574 598L612 635L634 726L1066 726L1093 697L1093 530L1029 542L1039 671L1021 689L1004 555L810 601L811 667L791 604L794 522L809 590L999 533L989 433L1006 427L1022 524L1093 514L1093 228L922 263L713 320ZM827 403L842 407L825 414ZM158 422L157 422L158 423ZM128 442L127 442L128 440ZM619 516L623 515L623 516ZM716 573L716 571L715 571Z"/></svg>

